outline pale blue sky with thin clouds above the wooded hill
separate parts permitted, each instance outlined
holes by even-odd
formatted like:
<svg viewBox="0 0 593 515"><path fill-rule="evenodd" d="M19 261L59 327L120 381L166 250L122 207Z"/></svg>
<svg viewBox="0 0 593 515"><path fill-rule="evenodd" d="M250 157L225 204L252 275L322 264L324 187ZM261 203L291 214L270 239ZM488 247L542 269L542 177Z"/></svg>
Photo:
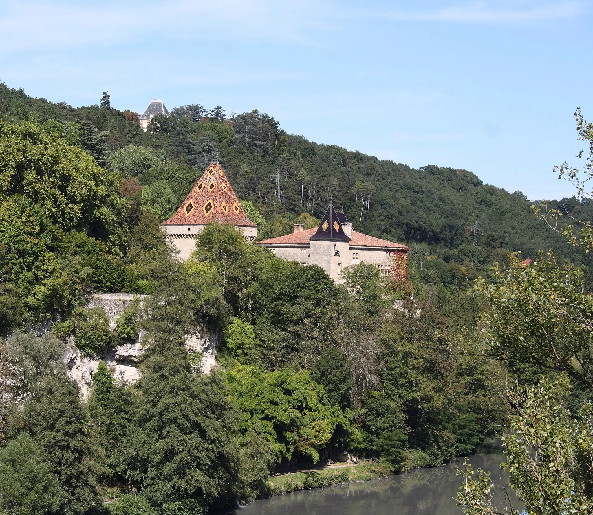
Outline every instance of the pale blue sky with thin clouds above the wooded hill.
<svg viewBox="0 0 593 515"><path fill-rule="evenodd" d="M0 81L71 105L200 102L289 133L465 168L530 199L593 120L593 1L0 0Z"/></svg>

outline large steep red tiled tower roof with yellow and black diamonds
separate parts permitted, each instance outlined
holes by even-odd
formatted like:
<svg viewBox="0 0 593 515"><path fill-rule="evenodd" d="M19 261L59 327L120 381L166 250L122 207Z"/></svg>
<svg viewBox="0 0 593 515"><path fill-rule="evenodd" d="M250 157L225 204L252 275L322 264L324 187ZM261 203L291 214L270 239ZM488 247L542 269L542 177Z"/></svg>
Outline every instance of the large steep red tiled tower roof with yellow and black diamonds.
<svg viewBox="0 0 593 515"><path fill-rule="evenodd" d="M165 226L203 225L212 222L242 227L256 227L241 207L241 202L232 191L227 176L218 161L210 163L177 213Z"/></svg>

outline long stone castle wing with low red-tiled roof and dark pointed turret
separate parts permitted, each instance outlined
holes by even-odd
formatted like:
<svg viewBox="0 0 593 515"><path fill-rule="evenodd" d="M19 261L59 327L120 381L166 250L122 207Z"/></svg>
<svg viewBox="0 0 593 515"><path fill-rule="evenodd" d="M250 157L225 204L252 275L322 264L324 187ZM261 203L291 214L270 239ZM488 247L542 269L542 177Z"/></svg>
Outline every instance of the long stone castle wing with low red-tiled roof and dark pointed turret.
<svg viewBox="0 0 593 515"><path fill-rule="evenodd" d="M256 245L301 266L318 265L338 283L343 269L362 262L377 265L383 276L407 279L410 247L353 231L343 211L336 212L331 202L318 227L304 230L303 224L295 224L292 234Z"/></svg>

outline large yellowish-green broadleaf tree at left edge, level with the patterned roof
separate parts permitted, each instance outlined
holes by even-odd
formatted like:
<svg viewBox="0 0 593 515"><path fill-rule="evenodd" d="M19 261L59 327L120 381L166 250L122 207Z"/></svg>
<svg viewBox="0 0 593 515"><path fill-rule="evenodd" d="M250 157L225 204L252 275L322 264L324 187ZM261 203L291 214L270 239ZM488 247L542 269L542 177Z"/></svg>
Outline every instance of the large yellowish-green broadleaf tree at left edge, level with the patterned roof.
<svg viewBox="0 0 593 515"><path fill-rule="evenodd" d="M119 195L119 178L79 147L37 123L0 120L0 169L0 202L24 195L62 230L85 231L109 250L122 249L127 202Z"/></svg>

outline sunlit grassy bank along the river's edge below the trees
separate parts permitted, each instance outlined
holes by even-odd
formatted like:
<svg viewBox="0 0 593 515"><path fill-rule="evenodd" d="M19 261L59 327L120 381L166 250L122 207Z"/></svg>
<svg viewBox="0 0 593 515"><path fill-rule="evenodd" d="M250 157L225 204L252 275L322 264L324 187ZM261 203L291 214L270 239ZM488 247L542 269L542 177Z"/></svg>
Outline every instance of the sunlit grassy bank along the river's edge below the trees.
<svg viewBox="0 0 593 515"><path fill-rule="evenodd" d="M318 471L294 472L272 477L268 483L270 495L280 495L295 490L329 487L350 481L368 481L391 475L384 463L360 463L347 467L327 468Z"/></svg>

